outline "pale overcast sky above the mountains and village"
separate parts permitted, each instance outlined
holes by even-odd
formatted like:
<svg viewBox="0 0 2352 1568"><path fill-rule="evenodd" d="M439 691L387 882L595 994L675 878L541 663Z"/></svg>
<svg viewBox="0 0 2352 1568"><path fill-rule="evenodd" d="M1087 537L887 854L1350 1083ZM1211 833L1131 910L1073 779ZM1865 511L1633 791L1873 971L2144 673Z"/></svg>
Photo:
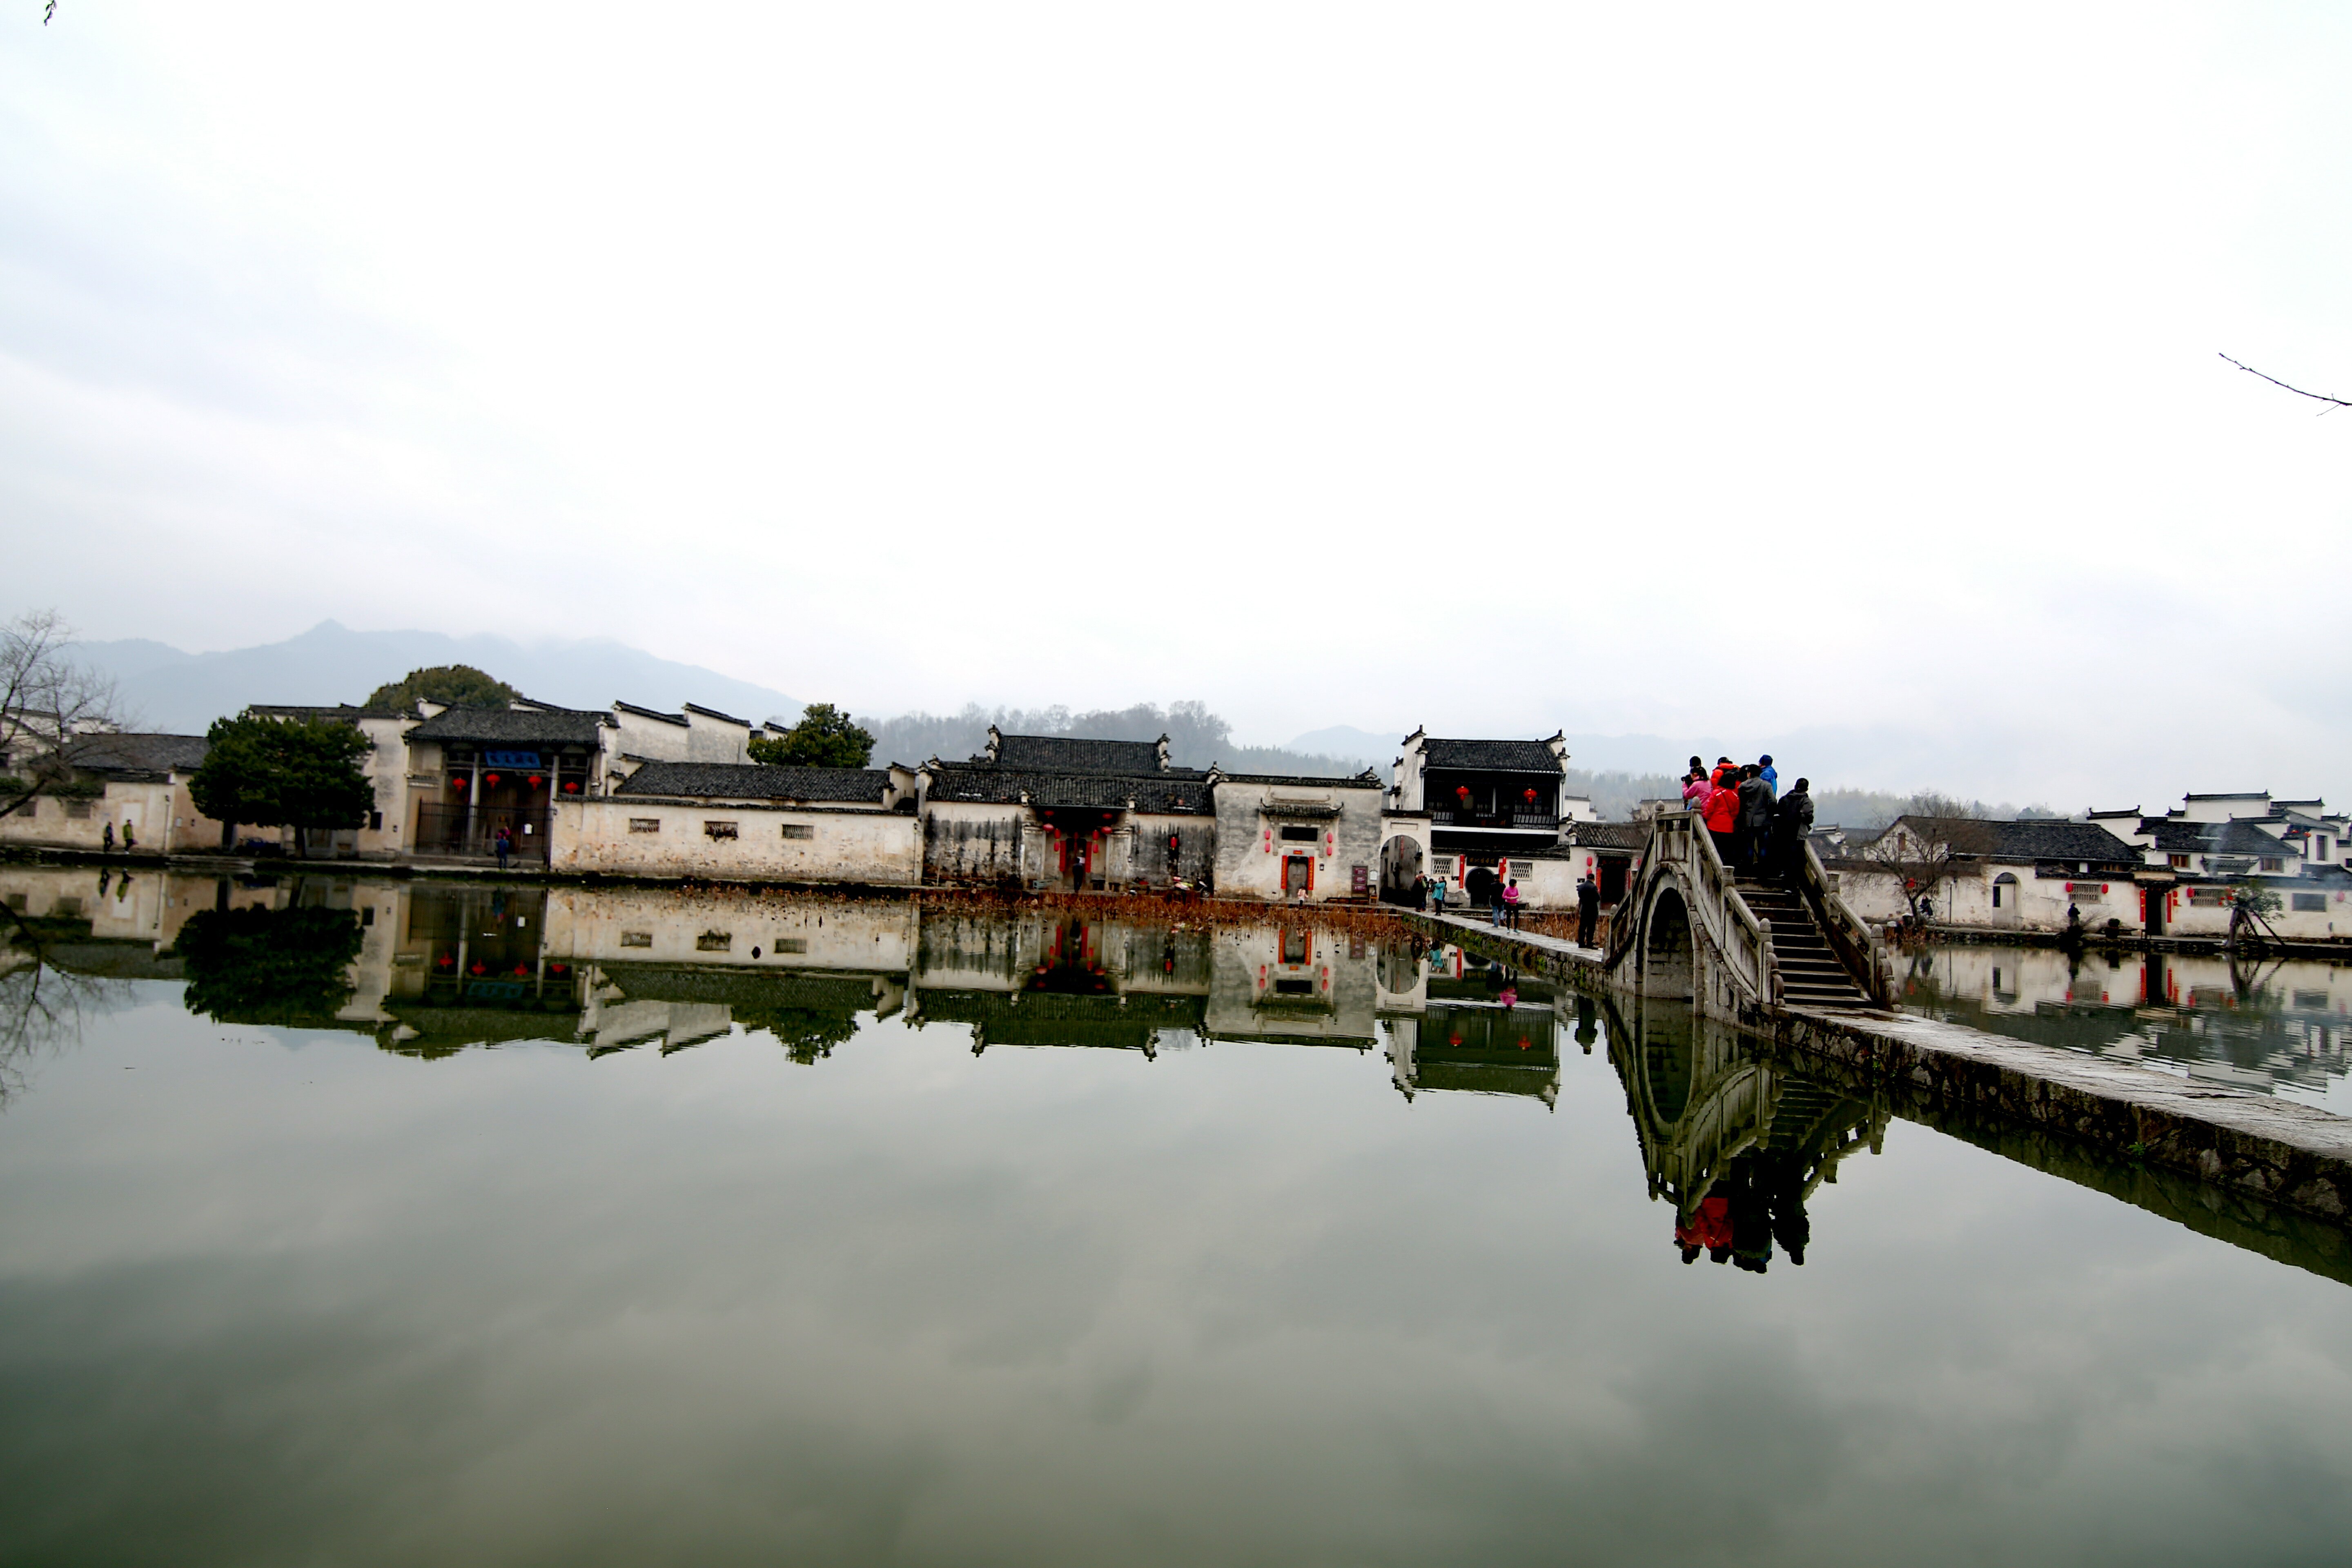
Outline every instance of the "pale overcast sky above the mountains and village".
<svg viewBox="0 0 2352 1568"><path fill-rule="evenodd" d="M0 609L2352 795L2352 12L1562 12L7 0Z"/></svg>

